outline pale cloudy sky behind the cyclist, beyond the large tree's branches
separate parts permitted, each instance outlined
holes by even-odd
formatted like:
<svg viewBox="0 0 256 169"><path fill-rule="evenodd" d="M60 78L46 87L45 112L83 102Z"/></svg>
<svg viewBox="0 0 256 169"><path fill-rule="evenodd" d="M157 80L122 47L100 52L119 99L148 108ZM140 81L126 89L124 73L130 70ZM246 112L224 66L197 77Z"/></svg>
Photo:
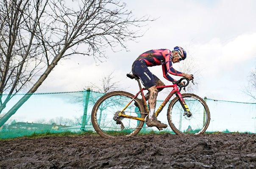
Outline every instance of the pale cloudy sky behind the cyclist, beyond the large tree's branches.
<svg viewBox="0 0 256 169"><path fill-rule="evenodd" d="M129 51L106 51L107 59L95 63L92 57L72 56L61 60L38 92L78 91L113 72L114 81L131 92L134 80L126 77L134 60L150 49L183 47L187 60L196 66L200 97L253 102L242 90L256 67L256 1L254 0L129 0L135 17L148 15L156 21L142 28L145 35L127 43ZM182 63L175 63L177 70ZM161 66L150 68L165 84ZM174 77L179 79L179 77ZM161 95L159 96L161 98Z"/></svg>

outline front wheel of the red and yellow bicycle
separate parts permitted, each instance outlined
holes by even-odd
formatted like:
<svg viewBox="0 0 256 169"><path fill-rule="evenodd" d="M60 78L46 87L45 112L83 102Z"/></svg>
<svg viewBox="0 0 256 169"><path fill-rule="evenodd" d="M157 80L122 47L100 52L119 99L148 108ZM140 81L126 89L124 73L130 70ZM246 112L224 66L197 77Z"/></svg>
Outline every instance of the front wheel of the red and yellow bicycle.
<svg viewBox="0 0 256 169"><path fill-rule="evenodd" d="M182 116L184 109L179 102L179 97L175 97L167 110L167 120L175 132L178 135L186 134L203 134L210 123L210 111L206 102L198 95L192 93L182 94L186 105L188 106L191 117L186 115Z"/></svg>

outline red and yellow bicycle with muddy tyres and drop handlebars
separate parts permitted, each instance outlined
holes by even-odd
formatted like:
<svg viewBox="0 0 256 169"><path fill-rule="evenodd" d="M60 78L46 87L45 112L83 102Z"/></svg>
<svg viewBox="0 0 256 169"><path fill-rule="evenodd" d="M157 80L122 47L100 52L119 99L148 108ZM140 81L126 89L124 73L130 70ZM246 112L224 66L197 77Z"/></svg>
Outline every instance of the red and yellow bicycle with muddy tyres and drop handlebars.
<svg viewBox="0 0 256 169"><path fill-rule="evenodd" d="M127 74L130 79L135 79L139 85L136 95L125 91L113 91L103 95L92 109L92 125L95 131L104 138L117 136L135 136L148 118L148 106L143 93L139 77ZM185 80L185 83L181 83ZM210 123L210 111L206 102L192 93L181 94L181 89L189 85L189 80L181 78L173 85L158 86L157 88L172 87L173 90L156 110L156 117L175 94L167 109L167 120L175 134L202 134ZM141 94L142 98L138 98ZM159 131L162 128L158 128Z"/></svg>

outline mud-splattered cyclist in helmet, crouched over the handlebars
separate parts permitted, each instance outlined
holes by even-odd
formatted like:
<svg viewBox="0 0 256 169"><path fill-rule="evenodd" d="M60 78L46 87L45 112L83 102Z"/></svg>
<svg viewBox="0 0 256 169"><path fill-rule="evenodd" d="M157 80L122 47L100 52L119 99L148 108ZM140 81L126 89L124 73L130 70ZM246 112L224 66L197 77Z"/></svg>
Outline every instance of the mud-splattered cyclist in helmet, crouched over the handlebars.
<svg viewBox="0 0 256 169"><path fill-rule="evenodd" d="M162 65L163 76L170 82L175 81L168 73L176 76L183 76L192 80L194 77L189 74L176 71L172 63L179 63L186 59L186 51L180 46L174 47L173 51L169 49L153 49L142 53L134 61L132 65L132 73L139 76L142 84L149 92L148 105L150 108L149 117L146 124L149 127L156 126L158 128L167 128L167 125L157 120L155 116L156 97L162 89L157 89L156 86L163 86L164 83L155 75L153 75L147 67ZM147 97L146 97L147 98Z"/></svg>

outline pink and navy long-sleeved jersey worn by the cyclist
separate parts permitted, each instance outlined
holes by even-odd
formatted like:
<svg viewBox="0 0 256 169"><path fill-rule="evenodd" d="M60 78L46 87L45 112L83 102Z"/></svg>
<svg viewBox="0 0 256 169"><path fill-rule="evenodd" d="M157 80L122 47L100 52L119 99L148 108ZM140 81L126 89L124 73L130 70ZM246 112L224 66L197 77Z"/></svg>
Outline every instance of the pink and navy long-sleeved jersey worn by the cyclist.
<svg viewBox="0 0 256 169"><path fill-rule="evenodd" d="M142 53L136 60L144 60L148 67L162 65L164 78L173 82L175 79L168 73L175 76L182 76L182 73L173 68L172 58L172 52L169 49L153 49Z"/></svg>

